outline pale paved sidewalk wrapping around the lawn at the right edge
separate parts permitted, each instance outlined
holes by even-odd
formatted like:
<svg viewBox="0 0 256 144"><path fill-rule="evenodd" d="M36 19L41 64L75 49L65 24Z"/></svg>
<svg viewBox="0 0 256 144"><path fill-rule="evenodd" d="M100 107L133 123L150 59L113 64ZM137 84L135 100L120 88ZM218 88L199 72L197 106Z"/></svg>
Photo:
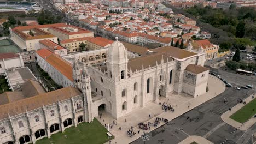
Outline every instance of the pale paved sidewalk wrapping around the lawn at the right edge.
<svg viewBox="0 0 256 144"><path fill-rule="evenodd" d="M252 99L252 95L250 95L244 101L246 101L246 104L248 104L252 100L253 100ZM229 118L231 115L233 115L233 113L235 113L236 111L240 110L243 106L245 106L245 105L242 104L242 103L239 103L236 106L232 107L231 111L226 111L225 113L223 113L223 115L221 116L222 121L224 121L225 123L231 125L232 127L240 129L240 130L247 130L250 127L252 127L252 125L254 123L256 123L256 118L250 118L249 121L247 121L244 124L239 123L239 122L235 121L234 119Z"/></svg>

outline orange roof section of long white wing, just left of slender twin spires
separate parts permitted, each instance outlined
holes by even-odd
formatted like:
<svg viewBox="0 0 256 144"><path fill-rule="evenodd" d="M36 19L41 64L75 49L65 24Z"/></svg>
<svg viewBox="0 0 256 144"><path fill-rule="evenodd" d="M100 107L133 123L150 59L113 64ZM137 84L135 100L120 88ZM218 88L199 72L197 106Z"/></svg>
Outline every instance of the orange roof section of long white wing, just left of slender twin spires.
<svg viewBox="0 0 256 144"><path fill-rule="evenodd" d="M60 73L66 76L69 80L73 81L71 63L67 62L65 59L56 54L48 56L46 58L46 62L48 62L51 66L60 71Z"/></svg>

